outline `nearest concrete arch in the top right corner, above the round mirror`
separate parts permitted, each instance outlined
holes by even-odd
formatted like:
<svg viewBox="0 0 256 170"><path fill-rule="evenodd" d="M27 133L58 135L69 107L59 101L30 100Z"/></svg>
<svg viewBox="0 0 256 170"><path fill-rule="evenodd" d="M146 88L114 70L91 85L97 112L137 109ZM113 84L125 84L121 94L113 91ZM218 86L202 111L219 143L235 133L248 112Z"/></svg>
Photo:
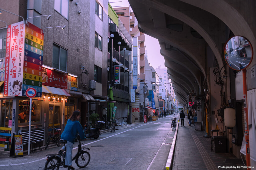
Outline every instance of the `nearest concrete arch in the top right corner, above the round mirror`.
<svg viewBox="0 0 256 170"><path fill-rule="evenodd" d="M237 0L236 3L228 0L179 0L187 4L196 6L203 10L210 12L211 14L222 20L234 35L241 35L250 41L253 47L256 46L256 23L255 23L255 1ZM230 19L232 18L232 19ZM237 24L239 23L239 24ZM251 66L256 64L256 53L253 54L253 60ZM248 67L250 68L250 66Z"/></svg>

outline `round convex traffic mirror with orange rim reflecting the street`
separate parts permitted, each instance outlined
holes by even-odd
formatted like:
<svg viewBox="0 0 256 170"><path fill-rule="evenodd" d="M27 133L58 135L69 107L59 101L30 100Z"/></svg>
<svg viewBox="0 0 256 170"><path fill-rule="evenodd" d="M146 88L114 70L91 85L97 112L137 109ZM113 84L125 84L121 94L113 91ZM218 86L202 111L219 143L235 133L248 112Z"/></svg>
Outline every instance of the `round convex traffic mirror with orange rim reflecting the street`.
<svg viewBox="0 0 256 170"><path fill-rule="evenodd" d="M224 57L233 70L243 70L252 61L253 49L251 43L243 36L229 38L224 46Z"/></svg>

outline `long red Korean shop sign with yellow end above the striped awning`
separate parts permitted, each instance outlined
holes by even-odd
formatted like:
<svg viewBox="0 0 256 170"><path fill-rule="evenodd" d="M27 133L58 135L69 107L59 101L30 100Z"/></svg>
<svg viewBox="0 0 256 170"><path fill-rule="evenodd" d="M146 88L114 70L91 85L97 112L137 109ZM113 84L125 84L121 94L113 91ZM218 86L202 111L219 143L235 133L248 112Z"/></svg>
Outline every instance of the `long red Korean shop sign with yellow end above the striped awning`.
<svg viewBox="0 0 256 170"><path fill-rule="evenodd" d="M77 77L42 68L42 85L77 91Z"/></svg>

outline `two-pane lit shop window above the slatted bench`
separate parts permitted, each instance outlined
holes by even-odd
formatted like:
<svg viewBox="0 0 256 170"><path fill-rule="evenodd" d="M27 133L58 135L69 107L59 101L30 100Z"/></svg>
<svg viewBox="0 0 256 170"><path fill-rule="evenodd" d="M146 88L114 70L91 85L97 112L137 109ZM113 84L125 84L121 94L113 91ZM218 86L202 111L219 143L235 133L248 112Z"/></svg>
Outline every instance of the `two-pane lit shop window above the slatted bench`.
<svg viewBox="0 0 256 170"><path fill-rule="evenodd" d="M28 124L29 122L29 100L19 100L18 125ZM31 122L41 121L41 101L32 100Z"/></svg>

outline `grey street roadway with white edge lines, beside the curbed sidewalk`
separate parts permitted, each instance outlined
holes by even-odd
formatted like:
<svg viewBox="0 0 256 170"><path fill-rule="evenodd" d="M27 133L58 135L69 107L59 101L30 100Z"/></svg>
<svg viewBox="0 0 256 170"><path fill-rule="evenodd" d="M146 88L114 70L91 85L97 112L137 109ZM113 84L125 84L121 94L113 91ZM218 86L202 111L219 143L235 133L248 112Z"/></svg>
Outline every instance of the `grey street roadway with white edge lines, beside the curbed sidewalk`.
<svg viewBox="0 0 256 170"><path fill-rule="evenodd" d="M97 140L83 141L85 146L91 148L91 160L81 169L147 169L152 160L154 169L164 169L170 145L163 146L163 142L172 142L172 117L173 115L169 115L154 122L132 124L126 126L127 128L117 127L119 130L114 133L104 133ZM76 142L73 156L77 152L77 145ZM57 153L59 149L60 147L52 145L49 149L31 153L30 156L0 156L0 169L43 169L40 167L45 165L46 154ZM72 166L79 169L74 161ZM150 167L148 169L151 169Z"/></svg>

